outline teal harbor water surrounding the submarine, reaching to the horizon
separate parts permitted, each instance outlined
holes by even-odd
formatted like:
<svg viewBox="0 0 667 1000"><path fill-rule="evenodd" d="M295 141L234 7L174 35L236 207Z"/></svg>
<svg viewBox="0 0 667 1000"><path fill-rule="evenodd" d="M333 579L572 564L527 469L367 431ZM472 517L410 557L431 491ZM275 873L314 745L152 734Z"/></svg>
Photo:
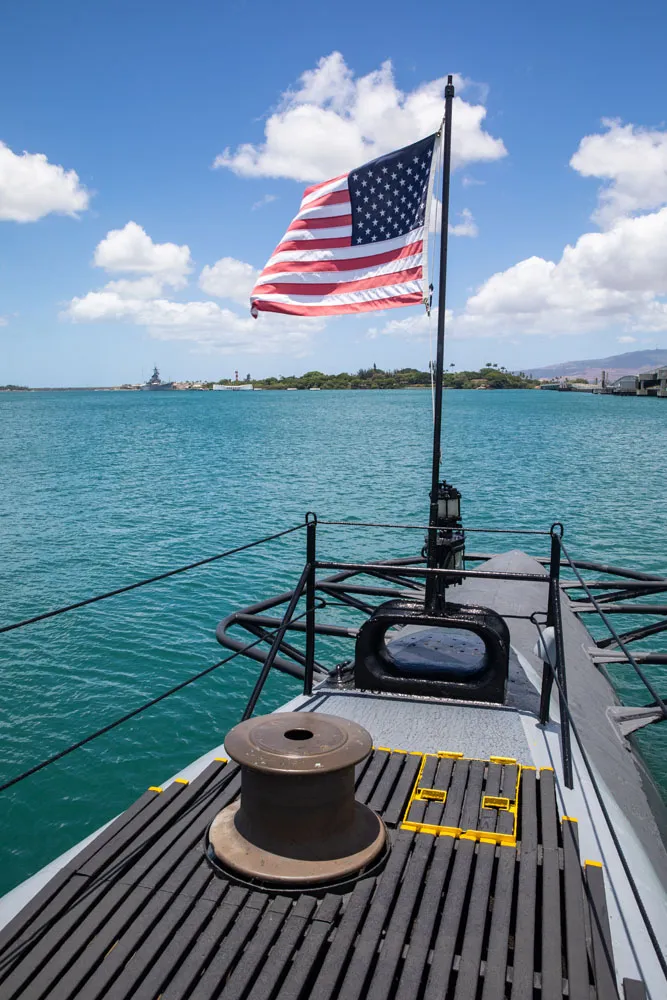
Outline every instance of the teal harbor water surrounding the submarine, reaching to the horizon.
<svg viewBox="0 0 667 1000"><path fill-rule="evenodd" d="M1 621L259 538L307 510L423 523L430 429L422 391L0 394ZM667 569L666 448L667 401L445 394L444 471L465 522L561 520L582 558ZM484 537L469 548L508 547ZM421 536L321 528L318 544L322 558L389 558L414 554ZM0 780L220 659L217 622L293 585L304 546L298 532L0 635ZM548 554L546 539L524 547ZM257 669L239 659L3 793L0 891L220 743ZM650 669L664 691L667 670ZM629 703L646 701L618 680ZM260 710L297 690L270 678ZM642 738L663 788L664 728Z"/></svg>

